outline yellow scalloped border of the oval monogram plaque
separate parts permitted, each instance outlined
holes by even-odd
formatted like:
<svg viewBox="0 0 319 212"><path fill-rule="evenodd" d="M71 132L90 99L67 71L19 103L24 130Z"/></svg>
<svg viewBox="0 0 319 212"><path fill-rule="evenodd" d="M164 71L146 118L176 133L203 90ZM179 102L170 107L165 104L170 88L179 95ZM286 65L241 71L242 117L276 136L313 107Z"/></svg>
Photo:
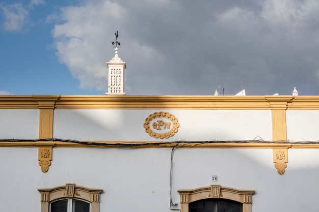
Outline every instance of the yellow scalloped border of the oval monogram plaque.
<svg viewBox="0 0 319 212"><path fill-rule="evenodd" d="M170 125L166 125L165 126L165 122L163 121L163 126L164 128L171 128L171 130L169 132L166 133L156 133L154 131L152 131L150 123L153 119L155 118L167 118L169 119L173 126L171 127ZM160 120L161 122L161 120ZM153 123L154 124L154 123ZM162 124L162 123L161 123ZM154 124L154 126L152 126L153 128L156 126L156 123ZM143 127L145 128L145 132L148 133L149 136L152 136L154 138L169 138L170 136L174 136L175 133L177 133L178 131L178 119L171 113L169 112L154 112L152 114L149 114L149 116L147 118L145 118L145 122L143 124Z"/></svg>

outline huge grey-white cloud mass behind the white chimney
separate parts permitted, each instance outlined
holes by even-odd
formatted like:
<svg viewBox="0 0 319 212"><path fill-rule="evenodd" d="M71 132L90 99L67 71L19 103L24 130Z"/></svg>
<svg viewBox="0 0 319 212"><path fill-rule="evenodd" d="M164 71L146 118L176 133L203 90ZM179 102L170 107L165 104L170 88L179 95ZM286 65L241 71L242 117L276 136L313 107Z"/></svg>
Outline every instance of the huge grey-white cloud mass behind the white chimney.
<svg viewBox="0 0 319 212"><path fill-rule="evenodd" d="M57 55L81 88L107 90L119 31L127 94L319 93L319 2L99 0L62 8ZM49 19L49 17L48 17ZM50 19L52 20L52 19Z"/></svg>

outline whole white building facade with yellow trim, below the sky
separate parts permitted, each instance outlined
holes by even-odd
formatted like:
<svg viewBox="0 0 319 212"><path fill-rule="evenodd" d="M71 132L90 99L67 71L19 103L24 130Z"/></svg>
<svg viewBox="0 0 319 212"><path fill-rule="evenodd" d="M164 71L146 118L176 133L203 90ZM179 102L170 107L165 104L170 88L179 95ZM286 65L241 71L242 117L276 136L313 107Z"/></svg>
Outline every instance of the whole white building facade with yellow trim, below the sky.
<svg viewBox="0 0 319 212"><path fill-rule="evenodd" d="M317 211L318 120L319 96L0 96L0 211Z"/></svg>

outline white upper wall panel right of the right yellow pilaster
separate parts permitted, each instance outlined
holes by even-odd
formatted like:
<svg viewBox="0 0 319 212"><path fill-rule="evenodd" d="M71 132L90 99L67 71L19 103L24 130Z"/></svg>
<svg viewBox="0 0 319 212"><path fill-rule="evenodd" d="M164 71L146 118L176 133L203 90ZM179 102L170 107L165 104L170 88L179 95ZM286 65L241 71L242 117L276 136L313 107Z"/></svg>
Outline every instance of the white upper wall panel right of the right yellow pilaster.
<svg viewBox="0 0 319 212"><path fill-rule="evenodd" d="M319 141L319 110L286 110L289 141Z"/></svg>

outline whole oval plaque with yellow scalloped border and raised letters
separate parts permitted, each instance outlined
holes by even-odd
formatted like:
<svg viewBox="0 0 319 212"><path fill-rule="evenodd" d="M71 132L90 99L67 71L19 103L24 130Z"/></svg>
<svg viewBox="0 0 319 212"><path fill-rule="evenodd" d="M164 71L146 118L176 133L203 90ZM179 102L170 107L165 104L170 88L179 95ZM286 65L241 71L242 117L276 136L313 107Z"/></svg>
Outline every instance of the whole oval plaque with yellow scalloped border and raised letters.
<svg viewBox="0 0 319 212"><path fill-rule="evenodd" d="M145 118L145 132L154 138L169 138L178 131L178 119L169 112L154 112Z"/></svg>

